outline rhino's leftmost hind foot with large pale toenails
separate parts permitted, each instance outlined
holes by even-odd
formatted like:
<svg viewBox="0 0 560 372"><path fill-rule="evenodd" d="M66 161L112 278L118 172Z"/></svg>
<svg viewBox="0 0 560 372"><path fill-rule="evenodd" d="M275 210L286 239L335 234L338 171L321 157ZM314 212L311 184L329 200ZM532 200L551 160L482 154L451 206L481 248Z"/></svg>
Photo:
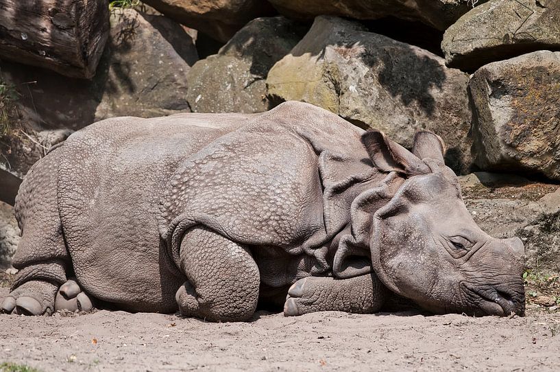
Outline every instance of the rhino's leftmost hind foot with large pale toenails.
<svg viewBox="0 0 560 372"><path fill-rule="evenodd" d="M57 286L47 281L27 281L0 301L0 313L50 315L54 308L56 290Z"/></svg>

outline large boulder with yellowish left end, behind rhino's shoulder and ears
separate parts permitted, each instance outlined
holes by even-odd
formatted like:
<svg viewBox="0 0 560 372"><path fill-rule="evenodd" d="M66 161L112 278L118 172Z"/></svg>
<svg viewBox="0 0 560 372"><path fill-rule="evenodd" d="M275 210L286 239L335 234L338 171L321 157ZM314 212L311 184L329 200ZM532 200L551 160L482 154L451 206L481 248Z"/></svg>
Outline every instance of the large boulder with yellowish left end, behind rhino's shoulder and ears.
<svg viewBox="0 0 560 372"><path fill-rule="evenodd" d="M317 17L267 78L273 100L315 104L405 147L417 128L433 130L458 172L471 164L467 83L465 73L429 51L330 16Z"/></svg>

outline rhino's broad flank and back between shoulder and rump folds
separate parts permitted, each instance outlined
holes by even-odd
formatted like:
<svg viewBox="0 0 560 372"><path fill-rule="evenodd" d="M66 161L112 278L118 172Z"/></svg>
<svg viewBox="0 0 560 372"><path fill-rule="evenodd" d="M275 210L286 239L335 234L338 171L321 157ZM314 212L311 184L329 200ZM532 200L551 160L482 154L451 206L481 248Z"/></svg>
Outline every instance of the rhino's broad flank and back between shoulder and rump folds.
<svg viewBox="0 0 560 372"><path fill-rule="evenodd" d="M162 254L156 217L163 188L182 159L248 117L123 117L69 137L60 149L58 204L86 291L129 310L175 310L184 278Z"/></svg>

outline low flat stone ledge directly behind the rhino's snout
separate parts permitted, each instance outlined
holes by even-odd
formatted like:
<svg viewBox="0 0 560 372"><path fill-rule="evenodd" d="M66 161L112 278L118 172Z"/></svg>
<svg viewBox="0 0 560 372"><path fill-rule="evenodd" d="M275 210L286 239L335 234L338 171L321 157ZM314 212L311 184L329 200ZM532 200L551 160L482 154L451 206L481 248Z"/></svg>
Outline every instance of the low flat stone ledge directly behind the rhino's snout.
<svg viewBox="0 0 560 372"><path fill-rule="evenodd" d="M492 180L488 186L473 182L479 176L480 173L461 176L459 183L465 205L480 229L493 237L520 237L529 270L559 272L559 185L485 173L480 178Z"/></svg>

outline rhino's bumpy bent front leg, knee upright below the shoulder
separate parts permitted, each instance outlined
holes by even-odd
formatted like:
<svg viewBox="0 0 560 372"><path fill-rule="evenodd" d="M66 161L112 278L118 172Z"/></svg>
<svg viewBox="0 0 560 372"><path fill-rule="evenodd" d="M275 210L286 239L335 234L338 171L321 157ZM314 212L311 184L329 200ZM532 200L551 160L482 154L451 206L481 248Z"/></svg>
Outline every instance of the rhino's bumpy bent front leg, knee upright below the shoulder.
<svg viewBox="0 0 560 372"><path fill-rule="evenodd" d="M208 321L247 321L258 300L260 275L249 249L204 227L182 240L186 281L175 295L186 316Z"/></svg>

